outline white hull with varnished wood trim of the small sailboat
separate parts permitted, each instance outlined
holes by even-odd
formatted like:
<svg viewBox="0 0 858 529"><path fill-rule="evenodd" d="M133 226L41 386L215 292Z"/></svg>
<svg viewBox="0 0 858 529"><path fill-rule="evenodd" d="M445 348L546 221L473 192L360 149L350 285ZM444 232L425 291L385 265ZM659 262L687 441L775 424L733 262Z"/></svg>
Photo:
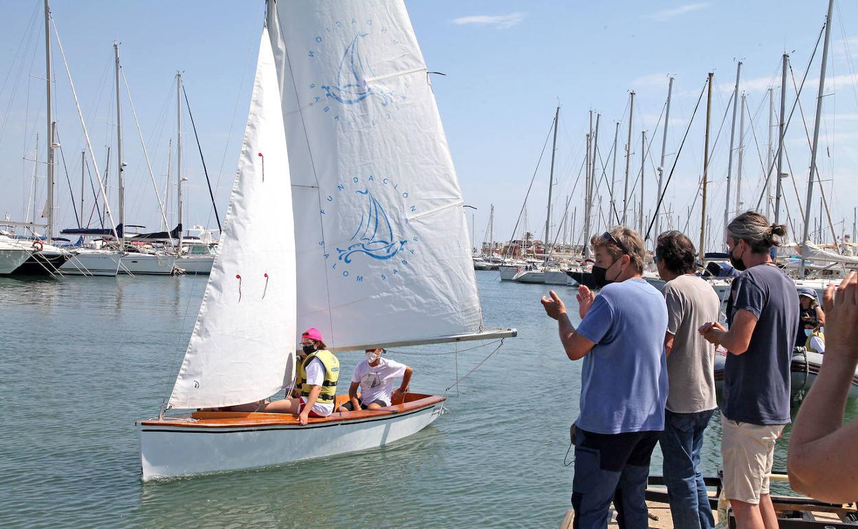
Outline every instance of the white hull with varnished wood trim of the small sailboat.
<svg viewBox="0 0 858 529"><path fill-rule="evenodd" d="M193 421L141 421L142 479L276 466L383 447L423 430L442 413L444 397L421 397L379 411L311 418L305 426L282 413L208 412L218 418L196 413Z"/></svg>

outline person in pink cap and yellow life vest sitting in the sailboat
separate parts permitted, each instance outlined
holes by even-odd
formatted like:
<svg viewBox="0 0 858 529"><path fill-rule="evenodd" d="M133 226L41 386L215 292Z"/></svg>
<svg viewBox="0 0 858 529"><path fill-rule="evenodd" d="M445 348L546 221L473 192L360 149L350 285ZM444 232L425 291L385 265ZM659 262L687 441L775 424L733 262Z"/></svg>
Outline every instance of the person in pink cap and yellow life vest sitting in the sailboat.
<svg viewBox="0 0 858 529"><path fill-rule="evenodd" d="M300 424L311 417L328 417L334 412L336 381L340 376L340 361L329 352L317 328L301 334L301 352L295 370L298 397L287 397L263 404L232 406L233 412L293 413Z"/></svg>

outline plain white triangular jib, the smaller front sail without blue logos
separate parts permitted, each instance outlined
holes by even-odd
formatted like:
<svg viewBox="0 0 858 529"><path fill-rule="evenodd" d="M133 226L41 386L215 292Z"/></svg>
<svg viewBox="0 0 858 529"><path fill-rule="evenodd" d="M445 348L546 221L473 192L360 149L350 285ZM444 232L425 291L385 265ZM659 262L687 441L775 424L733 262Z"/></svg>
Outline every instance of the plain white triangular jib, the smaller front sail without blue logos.
<svg viewBox="0 0 858 529"><path fill-rule="evenodd" d="M269 397L292 381L296 346L292 190L264 30L239 171L169 406L230 406Z"/></svg>

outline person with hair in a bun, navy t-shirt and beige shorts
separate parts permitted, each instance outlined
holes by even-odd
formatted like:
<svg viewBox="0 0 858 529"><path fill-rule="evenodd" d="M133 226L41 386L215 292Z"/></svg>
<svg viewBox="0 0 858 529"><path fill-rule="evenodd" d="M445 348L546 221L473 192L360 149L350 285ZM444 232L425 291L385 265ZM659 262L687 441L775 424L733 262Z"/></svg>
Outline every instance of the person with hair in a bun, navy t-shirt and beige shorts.
<svg viewBox="0 0 858 529"><path fill-rule="evenodd" d="M707 322L700 334L728 350L722 406L724 493L740 528L776 529L769 495L775 442L789 424L789 364L798 333L795 283L772 262L770 249L786 235L746 212L727 226L730 262L742 271L734 280L729 330Z"/></svg>

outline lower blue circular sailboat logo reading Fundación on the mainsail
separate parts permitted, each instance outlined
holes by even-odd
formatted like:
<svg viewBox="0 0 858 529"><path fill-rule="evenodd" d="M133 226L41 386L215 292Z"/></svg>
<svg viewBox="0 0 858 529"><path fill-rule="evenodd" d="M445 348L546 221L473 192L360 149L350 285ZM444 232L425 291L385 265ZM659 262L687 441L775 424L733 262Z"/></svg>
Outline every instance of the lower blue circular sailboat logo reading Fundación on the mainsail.
<svg viewBox="0 0 858 529"><path fill-rule="evenodd" d="M391 208L390 201L396 202L397 198L401 202ZM408 191L399 189L388 177L352 177L348 183L338 183L336 191L324 201L327 205L320 210L323 219L333 215L340 240L345 240L333 248L319 242L335 276L358 283L368 279L386 281L408 269L420 237L403 235L407 225L396 222L396 216L391 220L390 216L394 212L395 215L416 213L417 207L410 203ZM354 219L353 231L343 233L342 221L346 217Z"/></svg>

